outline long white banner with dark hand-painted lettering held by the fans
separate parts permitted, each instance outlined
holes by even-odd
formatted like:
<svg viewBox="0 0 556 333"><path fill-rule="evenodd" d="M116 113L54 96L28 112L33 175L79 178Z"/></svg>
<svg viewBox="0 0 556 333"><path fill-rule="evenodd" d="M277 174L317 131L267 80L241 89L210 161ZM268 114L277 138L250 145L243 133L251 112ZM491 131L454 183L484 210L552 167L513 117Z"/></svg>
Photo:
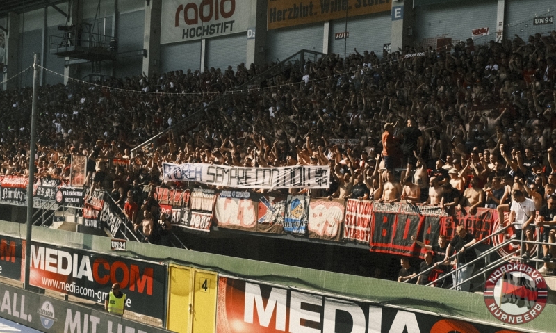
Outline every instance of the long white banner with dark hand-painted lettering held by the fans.
<svg viewBox="0 0 556 333"><path fill-rule="evenodd" d="M164 181L195 181L229 188L329 188L328 165L246 168L205 163L163 163Z"/></svg>

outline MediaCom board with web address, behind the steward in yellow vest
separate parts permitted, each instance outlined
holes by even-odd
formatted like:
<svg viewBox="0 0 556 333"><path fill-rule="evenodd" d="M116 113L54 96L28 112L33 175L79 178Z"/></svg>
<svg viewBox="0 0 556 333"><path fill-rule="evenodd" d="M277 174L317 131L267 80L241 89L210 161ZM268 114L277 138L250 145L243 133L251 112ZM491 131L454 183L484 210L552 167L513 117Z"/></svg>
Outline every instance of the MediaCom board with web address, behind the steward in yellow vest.
<svg viewBox="0 0 556 333"><path fill-rule="evenodd" d="M154 262L31 244L29 283L77 298L104 303L112 284L126 294L126 310L162 319L167 269Z"/></svg>

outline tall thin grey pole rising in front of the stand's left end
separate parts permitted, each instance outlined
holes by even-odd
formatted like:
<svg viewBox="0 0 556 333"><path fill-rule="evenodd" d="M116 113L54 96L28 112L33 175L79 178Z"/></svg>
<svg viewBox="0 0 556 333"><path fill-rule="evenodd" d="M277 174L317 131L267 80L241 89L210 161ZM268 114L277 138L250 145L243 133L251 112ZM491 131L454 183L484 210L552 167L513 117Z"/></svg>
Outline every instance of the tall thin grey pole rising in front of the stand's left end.
<svg viewBox="0 0 556 333"><path fill-rule="evenodd" d="M39 86L40 54L35 53L33 60L33 106L31 106L31 142L29 143L29 184L27 185L27 235L25 238L25 284L31 289L29 273L31 271L31 229L33 228L33 184L35 184L35 152L37 139L37 99Z"/></svg>

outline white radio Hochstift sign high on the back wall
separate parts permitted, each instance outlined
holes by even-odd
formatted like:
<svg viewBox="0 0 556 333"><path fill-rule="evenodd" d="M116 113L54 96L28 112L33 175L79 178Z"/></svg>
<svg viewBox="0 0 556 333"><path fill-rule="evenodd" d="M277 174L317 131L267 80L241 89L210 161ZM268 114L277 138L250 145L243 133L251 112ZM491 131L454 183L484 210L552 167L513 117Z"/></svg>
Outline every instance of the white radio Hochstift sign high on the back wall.
<svg viewBox="0 0 556 333"><path fill-rule="evenodd" d="M251 8L243 0L162 1L161 44L243 33Z"/></svg>

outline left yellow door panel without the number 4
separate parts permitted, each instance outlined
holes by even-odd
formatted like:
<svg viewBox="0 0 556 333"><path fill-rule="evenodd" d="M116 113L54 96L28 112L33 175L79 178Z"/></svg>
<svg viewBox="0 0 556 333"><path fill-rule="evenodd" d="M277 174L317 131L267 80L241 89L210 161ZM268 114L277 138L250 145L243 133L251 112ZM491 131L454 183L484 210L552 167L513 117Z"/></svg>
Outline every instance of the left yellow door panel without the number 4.
<svg viewBox="0 0 556 333"><path fill-rule="evenodd" d="M190 332L193 302L191 293L192 268L170 265L168 282L167 329Z"/></svg>

